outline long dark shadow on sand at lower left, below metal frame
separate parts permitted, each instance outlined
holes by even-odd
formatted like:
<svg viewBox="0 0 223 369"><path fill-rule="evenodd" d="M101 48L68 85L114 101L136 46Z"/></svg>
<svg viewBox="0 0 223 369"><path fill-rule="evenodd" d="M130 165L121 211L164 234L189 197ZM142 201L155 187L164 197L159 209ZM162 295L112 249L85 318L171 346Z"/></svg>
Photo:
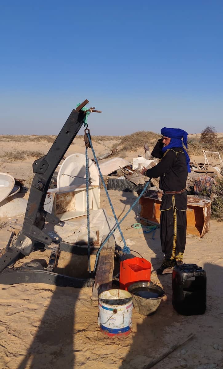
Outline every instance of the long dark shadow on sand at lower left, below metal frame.
<svg viewBox="0 0 223 369"><path fill-rule="evenodd" d="M72 265L71 260L72 256L68 265L64 267L65 270L70 271L70 276L73 267L75 267ZM62 274L62 269L55 268L55 272ZM84 263L82 257L81 278L84 275L86 275L86 278L89 278L87 256ZM73 276L78 277L76 275ZM57 287L55 290L51 290L53 295L38 327L38 331L17 369L73 369L75 366L75 305L79 298L80 289L59 287L58 278L55 284ZM48 284L45 290L50 290Z"/></svg>

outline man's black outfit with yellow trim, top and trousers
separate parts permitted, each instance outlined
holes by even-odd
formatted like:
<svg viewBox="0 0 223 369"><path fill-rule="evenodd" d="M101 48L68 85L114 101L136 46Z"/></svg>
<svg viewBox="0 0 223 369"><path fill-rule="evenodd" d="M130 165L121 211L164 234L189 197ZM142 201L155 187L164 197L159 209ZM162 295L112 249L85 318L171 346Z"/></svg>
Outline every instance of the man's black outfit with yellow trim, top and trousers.
<svg viewBox="0 0 223 369"><path fill-rule="evenodd" d="M182 148L171 148L162 152L163 144L158 141L152 156L161 158L159 163L145 172L150 178L160 177L159 188L178 192L186 187L188 168ZM181 194L163 194L160 217L160 239L165 254L163 265L173 267L175 261L181 262L186 244L186 192Z"/></svg>

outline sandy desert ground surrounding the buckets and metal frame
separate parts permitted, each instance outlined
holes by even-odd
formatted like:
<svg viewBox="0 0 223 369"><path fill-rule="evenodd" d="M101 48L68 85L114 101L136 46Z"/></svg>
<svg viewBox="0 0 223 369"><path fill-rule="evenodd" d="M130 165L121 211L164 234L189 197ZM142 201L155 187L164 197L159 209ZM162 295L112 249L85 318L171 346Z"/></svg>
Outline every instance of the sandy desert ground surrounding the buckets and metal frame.
<svg viewBox="0 0 223 369"><path fill-rule="evenodd" d="M77 138L76 141L66 156L85 151L81 140ZM2 142L0 144L1 149L5 149ZM103 154L109 151L111 145L95 144L94 148L97 154ZM50 146L42 144L40 147L38 143L38 150L47 152ZM31 144L28 148L25 143L25 149L32 147ZM143 151L137 153L140 154ZM32 173L32 162L33 159L18 163L4 162L1 172L27 178ZM117 191L110 191L109 195L119 218L137 197L136 193ZM101 207L112 215L104 190L101 190ZM152 263L152 269L156 269L162 261L158 230L155 239L152 239L151 233L143 234L130 228L136 222L139 210L136 205L130 211L121 229L124 237L134 242L131 249L140 252ZM18 223L23 223L23 217L18 219ZM0 248L6 245L9 235L7 227L0 230ZM107 338L100 332L98 306L91 300L90 288L0 284L0 369L143 369L191 333L195 334L192 340L154 368L223 368L222 235L222 223L212 220L210 231L204 238L187 236L184 261L202 266L207 273L206 313L189 317L176 313L171 301L172 276L158 278L152 275L152 282L162 286L166 296L151 316L144 317L133 311L133 331L126 338ZM48 260L48 256L48 252L31 254L32 259ZM65 260L64 267L69 262Z"/></svg>

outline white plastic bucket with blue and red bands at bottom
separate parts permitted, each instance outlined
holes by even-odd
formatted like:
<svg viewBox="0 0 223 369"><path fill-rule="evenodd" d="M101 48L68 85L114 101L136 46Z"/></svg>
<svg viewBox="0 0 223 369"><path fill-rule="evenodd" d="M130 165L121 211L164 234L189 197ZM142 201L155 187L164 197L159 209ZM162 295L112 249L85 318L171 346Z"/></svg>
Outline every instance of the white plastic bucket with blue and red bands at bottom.
<svg viewBox="0 0 223 369"><path fill-rule="evenodd" d="M108 290L99 295L100 330L110 336L127 336L132 330L133 298L125 290Z"/></svg>

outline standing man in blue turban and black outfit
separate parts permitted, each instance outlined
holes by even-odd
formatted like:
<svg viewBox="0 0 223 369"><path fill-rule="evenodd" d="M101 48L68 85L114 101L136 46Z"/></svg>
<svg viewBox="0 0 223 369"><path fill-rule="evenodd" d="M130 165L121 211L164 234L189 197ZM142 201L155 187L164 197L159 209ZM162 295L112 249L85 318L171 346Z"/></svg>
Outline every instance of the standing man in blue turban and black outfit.
<svg viewBox="0 0 223 369"><path fill-rule="evenodd" d="M186 245L186 179L190 169L187 148L187 132L179 128L162 128L162 138L157 141L152 156L159 163L142 173L150 178L160 177L159 188L163 192L160 206L160 239L164 259L157 274L169 272L174 265L183 263Z"/></svg>

